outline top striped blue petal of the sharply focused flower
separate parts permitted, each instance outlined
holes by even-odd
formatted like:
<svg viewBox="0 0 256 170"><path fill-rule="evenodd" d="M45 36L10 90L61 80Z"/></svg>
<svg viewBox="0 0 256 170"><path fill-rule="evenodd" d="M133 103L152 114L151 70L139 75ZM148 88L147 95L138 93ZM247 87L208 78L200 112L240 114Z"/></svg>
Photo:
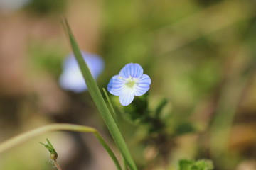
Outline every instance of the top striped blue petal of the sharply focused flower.
<svg viewBox="0 0 256 170"><path fill-rule="evenodd" d="M143 69L137 63L129 63L129 64L126 64L124 68L121 69L119 74L124 78L128 78L129 76L139 78L143 74Z"/></svg>

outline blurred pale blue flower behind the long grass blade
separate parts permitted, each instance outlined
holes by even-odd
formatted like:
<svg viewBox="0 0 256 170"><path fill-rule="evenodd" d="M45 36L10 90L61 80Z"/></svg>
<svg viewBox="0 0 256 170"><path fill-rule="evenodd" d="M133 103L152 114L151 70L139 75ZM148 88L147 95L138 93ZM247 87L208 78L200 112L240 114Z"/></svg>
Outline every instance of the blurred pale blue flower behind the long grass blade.
<svg viewBox="0 0 256 170"><path fill-rule="evenodd" d="M97 79L102 70L104 69L104 62L101 57L92 55L87 52L82 52L87 66L92 73L92 77ZM63 73L60 75L60 86L65 90L71 90L76 93L87 90L85 80L82 77L82 72L78 66L78 62L73 54L68 55L63 64Z"/></svg>

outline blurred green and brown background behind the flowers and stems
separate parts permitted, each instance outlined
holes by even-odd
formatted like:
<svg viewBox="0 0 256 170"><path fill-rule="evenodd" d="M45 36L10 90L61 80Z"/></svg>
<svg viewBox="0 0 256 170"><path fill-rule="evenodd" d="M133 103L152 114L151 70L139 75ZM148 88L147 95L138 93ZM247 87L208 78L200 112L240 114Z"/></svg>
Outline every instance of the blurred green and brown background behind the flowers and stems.
<svg viewBox="0 0 256 170"><path fill-rule="evenodd" d="M65 16L80 48L105 60L100 88L137 62L151 77L149 109L168 101L165 161L159 143L139 139L146 127L122 120L139 169L177 169L178 159L206 158L215 169L255 170L255 9L255 0L0 0L0 142L50 123L78 123L100 130L117 152L87 91L58 83L70 53ZM38 144L46 137L63 169L114 169L92 135L75 132L28 140L0 154L0 169L55 169Z"/></svg>

